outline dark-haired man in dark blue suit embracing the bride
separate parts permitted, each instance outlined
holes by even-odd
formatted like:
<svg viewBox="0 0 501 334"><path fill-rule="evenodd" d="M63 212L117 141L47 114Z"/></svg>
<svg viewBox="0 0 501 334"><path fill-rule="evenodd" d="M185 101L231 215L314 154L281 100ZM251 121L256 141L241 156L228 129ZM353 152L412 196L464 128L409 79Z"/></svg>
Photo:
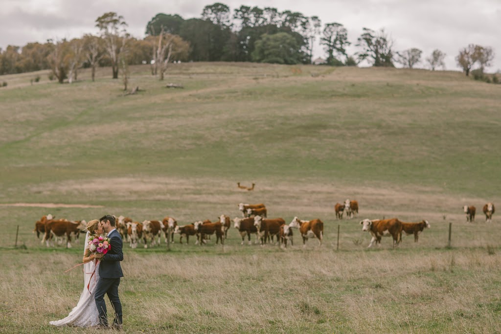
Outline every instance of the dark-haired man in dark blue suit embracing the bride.
<svg viewBox="0 0 501 334"><path fill-rule="evenodd" d="M122 252L122 238L120 233L115 229L115 217L106 215L99 219L105 232L108 233L110 238L111 249L103 256L100 256L99 265L99 282L96 286L94 299L99 311L99 326L108 327L108 318L106 316L106 304L104 302L104 294L108 294L108 298L115 310L115 319L113 320L113 327L116 329L122 328L122 304L118 297L118 285L120 284L120 277L123 277L120 261L124 259ZM99 254L101 255L101 254ZM96 256L98 258L98 256Z"/></svg>

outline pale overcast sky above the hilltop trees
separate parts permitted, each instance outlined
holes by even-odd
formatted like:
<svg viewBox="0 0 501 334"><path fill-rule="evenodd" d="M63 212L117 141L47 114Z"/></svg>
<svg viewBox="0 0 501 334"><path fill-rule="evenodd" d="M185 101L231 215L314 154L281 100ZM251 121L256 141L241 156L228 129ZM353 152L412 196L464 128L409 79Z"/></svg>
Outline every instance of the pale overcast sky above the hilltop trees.
<svg viewBox="0 0 501 334"><path fill-rule="evenodd" d="M215 2L215 1L214 1ZM23 46L47 39L81 37L97 33L95 20L105 12L117 12L129 24L131 35L142 38L148 21L157 13L199 18L208 0L0 0L0 47ZM493 65L501 69L501 0L243 0L221 1L231 12L241 5L275 7L306 16L318 16L322 23L338 22L356 43L363 27L385 28L397 51L418 48L422 59L434 49L446 53L446 68L460 70L454 60L458 50L470 43L494 49ZM357 51L354 46L349 54ZM320 46L314 56L324 57ZM421 65L421 67L424 65Z"/></svg>

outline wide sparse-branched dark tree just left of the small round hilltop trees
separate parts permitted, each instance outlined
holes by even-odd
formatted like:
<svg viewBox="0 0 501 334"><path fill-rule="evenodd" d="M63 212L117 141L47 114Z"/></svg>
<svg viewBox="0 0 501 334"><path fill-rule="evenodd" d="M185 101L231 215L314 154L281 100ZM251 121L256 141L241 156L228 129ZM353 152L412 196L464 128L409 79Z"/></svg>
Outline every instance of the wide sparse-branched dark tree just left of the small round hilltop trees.
<svg viewBox="0 0 501 334"><path fill-rule="evenodd" d="M358 53L360 61L367 60L372 66L390 66L393 65L393 41L381 29L378 33L375 31L363 28L363 33L357 39L357 47L363 50Z"/></svg>

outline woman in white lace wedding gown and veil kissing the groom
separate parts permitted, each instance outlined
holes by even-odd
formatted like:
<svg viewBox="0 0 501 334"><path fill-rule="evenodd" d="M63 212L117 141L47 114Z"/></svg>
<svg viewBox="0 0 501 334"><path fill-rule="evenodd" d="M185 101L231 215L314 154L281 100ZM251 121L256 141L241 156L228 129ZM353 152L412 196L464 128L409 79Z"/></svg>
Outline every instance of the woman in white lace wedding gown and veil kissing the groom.
<svg viewBox="0 0 501 334"><path fill-rule="evenodd" d="M99 324L99 312L94 300L94 291L99 281L99 262L95 264L94 254L89 250L88 240L91 234L103 234L103 227L99 220L94 219L87 223L87 234L84 246L84 290L80 294L80 300L67 317L57 321L49 321L55 326L90 327ZM95 269L95 270L94 270ZM92 273L95 271L94 275ZM92 276L92 277L91 277ZM89 286L89 288L87 288Z"/></svg>

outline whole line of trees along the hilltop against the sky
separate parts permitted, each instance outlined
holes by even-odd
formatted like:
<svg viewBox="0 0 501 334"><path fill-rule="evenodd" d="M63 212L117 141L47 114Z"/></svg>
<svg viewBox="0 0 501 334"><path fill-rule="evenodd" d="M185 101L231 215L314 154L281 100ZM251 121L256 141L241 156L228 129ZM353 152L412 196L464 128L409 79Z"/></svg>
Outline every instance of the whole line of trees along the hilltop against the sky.
<svg viewBox="0 0 501 334"><path fill-rule="evenodd" d="M0 75L52 69L54 79L71 83L80 68L91 68L94 80L98 66L110 66L113 78L122 70L125 80L128 65L150 64L152 74L161 80L168 64L175 61L311 64L317 40L327 65L357 66L366 61L372 66L398 63L413 68L422 62L418 48L396 51L384 29L363 28L355 42L359 51L349 55L347 47L352 43L342 24L322 24L317 16L271 7L240 6L231 12L228 6L214 3L203 8L200 18L187 20L159 13L146 24L142 40L130 36L124 18L114 12L97 18L95 26L96 36L0 49ZM437 49L424 62L431 70L444 69L444 58ZM475 64L483 73L493 58L492 48L469 45L459 51L456 61L468 76Z"/></svg>

